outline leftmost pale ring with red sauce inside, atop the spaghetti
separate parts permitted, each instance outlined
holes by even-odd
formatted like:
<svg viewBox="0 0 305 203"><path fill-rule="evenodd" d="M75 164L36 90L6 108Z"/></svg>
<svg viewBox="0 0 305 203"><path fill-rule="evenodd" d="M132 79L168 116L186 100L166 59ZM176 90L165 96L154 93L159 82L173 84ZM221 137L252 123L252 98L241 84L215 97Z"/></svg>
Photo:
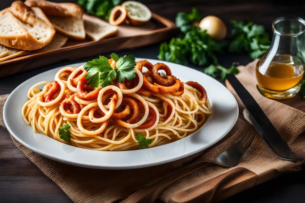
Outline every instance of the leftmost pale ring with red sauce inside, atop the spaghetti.
<svg viewBox="0 0 305 203"><path fill-rule="evenodd" d="M41 94L39 94L39 95L37 96L37 103L38 103L38 105L40 105L40 106L42 106L42 107L49 107L49 106L52 106L52 105L56 104L57 102L59 102L59 101L63 98L63 95L64 95L65 90L66 90L65 84L64 84L61 80L59 80L59 81L52 81L52 82L56 82L56 83L60 86L60 92L59 92L59 94L57 95L57 97L56 97L55 99L53 99L53 96L54 96L56 93L53 94L53 95L52 95L51 101L46 101L46 100L45 100L46 97L48 97L48 100L50 99L48 95L47 95L47 96L44 96L44 94L45 94L46 92L48 92L48 86L49 86L48 84L50 84L50 83L46 84L46 85L44 86L43 90L41 91ZM58 90L57 90L57 92L58 92Z"/></svg>

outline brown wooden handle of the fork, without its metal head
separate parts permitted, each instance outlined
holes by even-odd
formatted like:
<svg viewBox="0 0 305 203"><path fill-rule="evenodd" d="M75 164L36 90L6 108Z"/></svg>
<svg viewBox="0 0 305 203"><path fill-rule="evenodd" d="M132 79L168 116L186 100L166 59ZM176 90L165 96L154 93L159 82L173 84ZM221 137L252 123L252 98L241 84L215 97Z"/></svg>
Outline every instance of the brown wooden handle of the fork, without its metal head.
<svg viewBox="0 0 305 203"><path fill-rule="evenodd" d="M168 177L165 177L164 179L157 181L152 185L134 192L127 199L120 203L153 203L168 186L210 164L211 163L195 164L183 167L177 172L174 172L172 175L169 175Z"/></svg>

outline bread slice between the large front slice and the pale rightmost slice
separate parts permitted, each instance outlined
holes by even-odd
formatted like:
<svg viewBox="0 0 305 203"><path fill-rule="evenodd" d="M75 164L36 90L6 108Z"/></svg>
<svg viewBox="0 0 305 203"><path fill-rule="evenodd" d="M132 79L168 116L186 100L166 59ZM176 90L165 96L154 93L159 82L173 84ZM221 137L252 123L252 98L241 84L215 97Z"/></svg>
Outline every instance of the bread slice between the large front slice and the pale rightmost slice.
<svg viewBox="0 0 305 203"><path fill-rule="evenodd" d="M82 18L48 16L55 29L74 39L84 39L86 37L84 20Z"/></svg>

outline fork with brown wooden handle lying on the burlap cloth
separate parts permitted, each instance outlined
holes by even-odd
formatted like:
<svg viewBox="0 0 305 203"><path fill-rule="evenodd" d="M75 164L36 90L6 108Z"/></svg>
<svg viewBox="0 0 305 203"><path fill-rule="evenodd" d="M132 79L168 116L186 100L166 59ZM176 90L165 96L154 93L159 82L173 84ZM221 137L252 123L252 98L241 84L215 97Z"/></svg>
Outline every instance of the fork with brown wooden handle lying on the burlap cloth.
<svg viewBox="0 0 305 203"><path fill-rule="evenodd" d="M197 170L200 170L211 164L223 167L232 167L238 165L239 160L246 153L247 149L251 146L254 140L254 135L247 136L247 134L248 130L243 134L243 136L240 137L240 139L236 141L235 144L220 153L213 162L200 161L195 164L184 166L173 174L165 177L164 179L134 192L121 203L153 203L169 185L188 176L191 173L194 173Z"/></svg>

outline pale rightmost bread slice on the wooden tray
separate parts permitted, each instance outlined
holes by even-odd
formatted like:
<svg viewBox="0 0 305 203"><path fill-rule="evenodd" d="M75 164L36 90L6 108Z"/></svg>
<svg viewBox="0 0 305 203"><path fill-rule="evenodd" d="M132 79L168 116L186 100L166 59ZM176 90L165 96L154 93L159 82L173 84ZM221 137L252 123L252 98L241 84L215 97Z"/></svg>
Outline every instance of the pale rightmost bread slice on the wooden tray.
<svg viewBox="0 0 305 203"><path fill-rule="evenodd" d="M83 19L86 34L95 41L115 35L117 32L116 26L113 26L100 18L84 14Z"/></svg>

